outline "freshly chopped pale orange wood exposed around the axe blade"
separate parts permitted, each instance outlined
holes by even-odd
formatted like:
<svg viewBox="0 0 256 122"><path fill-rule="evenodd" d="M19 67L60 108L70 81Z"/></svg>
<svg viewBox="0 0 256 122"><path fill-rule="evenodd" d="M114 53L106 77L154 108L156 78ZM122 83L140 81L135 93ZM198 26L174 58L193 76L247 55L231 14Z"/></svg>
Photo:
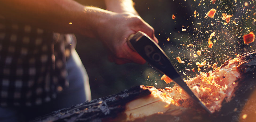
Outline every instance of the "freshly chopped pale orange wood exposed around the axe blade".
<svg viewBox="0 0 256 122"><path fill-rule="evenodd" d="M185 81L191 90L201 99L201 101L210 109L213 118L222 118L216 116L223 116L222 111L230 110L229 108L223 110L236 96L239 97L240 89L246 84L255 84L255 82L249 82L248 76L255 76L256 67L256 51L251 51L246 54L242 54L234 59L227 60L221 67L216 68L209 73L201 72L200 75L190 80ZM163 76L167 79L166 76ZM253 78L254 79L254 78ZM243 86L243 87L241 87ZM200 111L201 115L207 114L202 108L193 102L178 86L167 87L165 89L150 88L151 94L147 97L135 99L126 104L126 121L134 121L141 118L149 118L149 116L157 116L161 114L171 116L183 116L183 110ZM249 93L246 93L249 94ZM240 96L241 97L241 96ZM141 103L140 100L144 99L145 102ZM153 100L152 100L153 99ZM243 97L239 98L245 99ZM240 101L239 100L239 101ZM242 100L241 100L242 101ZM137 104L137 103L140 104ZM137 105L132 110L129 106ZM143 106L143 109L139 106ZM224 107L223 107L224 106ZM157 109L149 109L157 108ZM177 112L179 110L179 112ZM175 111L175 112L174 112ZM191 116L192 114L188 115ZM230 116L233 114L230 114ZM170 117L170 116L169 116ZM186 118L186 117L185 117ZM203 120L203 117L199 117ZM225 120L225 119L223 119Z"/></svg>

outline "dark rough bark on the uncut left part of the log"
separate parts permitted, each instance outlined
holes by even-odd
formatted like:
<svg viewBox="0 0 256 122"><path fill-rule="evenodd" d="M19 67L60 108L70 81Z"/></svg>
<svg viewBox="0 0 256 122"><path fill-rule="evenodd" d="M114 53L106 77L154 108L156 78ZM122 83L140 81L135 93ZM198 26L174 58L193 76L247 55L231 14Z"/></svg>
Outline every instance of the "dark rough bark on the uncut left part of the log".
<svg viewBox="0 0 256 122"><path fill-rule="evenodd" d="M125 104L133 99L151 94L147 89L135 86L121 93L86 101L35 118L31 122L86 122L111 119L125 111ZM120 116L119 116L120 117Z"/></svg>

